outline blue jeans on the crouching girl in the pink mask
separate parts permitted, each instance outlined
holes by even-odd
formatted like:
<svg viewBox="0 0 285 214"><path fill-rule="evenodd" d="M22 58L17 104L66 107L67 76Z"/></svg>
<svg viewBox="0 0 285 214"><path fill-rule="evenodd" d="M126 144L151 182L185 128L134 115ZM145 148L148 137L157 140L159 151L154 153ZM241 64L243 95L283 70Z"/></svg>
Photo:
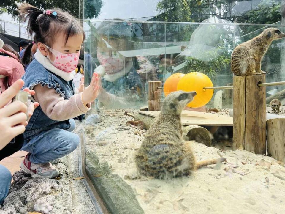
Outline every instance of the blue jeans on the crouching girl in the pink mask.
<svg viewBox="0 0 285 214"><path fill-rule="evenodd" d="M64 157L79 144L79 136L71 132L74 129L75 122L71 119L68 130L56 128L39 132L31 139L25 139L21 150L30 152L30 161L36 164Z"/></svg>

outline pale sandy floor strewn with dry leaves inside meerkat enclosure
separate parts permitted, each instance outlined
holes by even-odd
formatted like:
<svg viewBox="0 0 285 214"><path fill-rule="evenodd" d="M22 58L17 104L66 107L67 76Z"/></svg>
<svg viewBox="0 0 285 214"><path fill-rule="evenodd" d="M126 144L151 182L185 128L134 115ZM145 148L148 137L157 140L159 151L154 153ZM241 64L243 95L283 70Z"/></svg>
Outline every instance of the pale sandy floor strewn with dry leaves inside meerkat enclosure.
<svg viewBox="0 0 285 214"><path fill-rule="evenodd" d="M227 161L182 178L139 175L134 155L146 130L121 129L132 120L125 111L101 111L100 123L86 127L86 150L94 152L100 163L107 161L113 173L132 187L145 213L284 213L285 168L273 158L245 150L226 151L194 142L198 161L219 155Z"/></svg>

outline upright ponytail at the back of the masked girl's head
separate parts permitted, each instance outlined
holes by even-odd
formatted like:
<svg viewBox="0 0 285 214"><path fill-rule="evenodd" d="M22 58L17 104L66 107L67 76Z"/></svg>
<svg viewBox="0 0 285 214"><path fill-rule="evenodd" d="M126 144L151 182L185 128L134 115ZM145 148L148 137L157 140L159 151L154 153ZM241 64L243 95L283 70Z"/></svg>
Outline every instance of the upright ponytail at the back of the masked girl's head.
<svg viewBox="0 0 285 214"><path fill-rule="evenodd" d="M39 23L37 22L37 18L39 15L43 14L43 11L27 3L21 4L18 11L24 22L29 20L27 28L28 35L31 36L32 34L39 32Z"/></svg>

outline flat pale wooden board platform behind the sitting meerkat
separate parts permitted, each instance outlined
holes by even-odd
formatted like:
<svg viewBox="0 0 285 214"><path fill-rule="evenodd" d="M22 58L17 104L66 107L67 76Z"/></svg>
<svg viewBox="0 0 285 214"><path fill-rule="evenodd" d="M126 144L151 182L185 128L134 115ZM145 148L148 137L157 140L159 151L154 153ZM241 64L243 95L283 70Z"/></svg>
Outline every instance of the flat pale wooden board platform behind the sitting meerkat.
<svg viewBox="0 0 285 214"><path fill-rule="evenodd" d="M140 111L140 114L156 117L160 111ZM233 118L219 114L204 113L197 111L182 111L182 125L204 126L232 126Z"/></svg>

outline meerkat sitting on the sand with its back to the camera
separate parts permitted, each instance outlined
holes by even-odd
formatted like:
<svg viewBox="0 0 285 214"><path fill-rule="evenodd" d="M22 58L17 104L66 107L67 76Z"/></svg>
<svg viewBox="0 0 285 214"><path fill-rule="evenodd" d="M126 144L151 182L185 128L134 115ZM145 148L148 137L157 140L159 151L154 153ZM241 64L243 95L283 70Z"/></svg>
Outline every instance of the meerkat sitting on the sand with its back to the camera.
<svg viewBox="0 0 285 214"><path fill-rule="evenodd" d="M181 113L196 92L176 91L162 103L162 110L145 135L136 153L135 162L139 173L163 179L181 177L225 158L196 162L190 144L182 138Z"/></svg>

